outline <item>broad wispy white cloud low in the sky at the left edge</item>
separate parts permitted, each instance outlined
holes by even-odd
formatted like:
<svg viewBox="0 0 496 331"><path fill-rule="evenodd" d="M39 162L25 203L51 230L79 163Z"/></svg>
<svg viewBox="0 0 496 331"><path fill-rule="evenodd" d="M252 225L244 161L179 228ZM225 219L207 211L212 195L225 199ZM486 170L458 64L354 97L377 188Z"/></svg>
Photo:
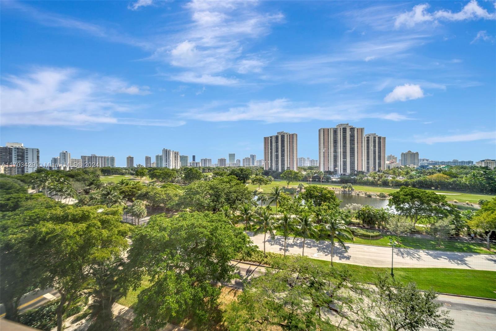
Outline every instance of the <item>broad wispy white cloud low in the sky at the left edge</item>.
<svg viewBox="0 0 496 331"><path fill-rule="evenodd" d="M152 125L152 120L116 116L134 110L129 102L118 100L120 94L147 93L146 86L113 77L83 75L72 68L35 68L23 76L2 77L1 125Z"/></svg>

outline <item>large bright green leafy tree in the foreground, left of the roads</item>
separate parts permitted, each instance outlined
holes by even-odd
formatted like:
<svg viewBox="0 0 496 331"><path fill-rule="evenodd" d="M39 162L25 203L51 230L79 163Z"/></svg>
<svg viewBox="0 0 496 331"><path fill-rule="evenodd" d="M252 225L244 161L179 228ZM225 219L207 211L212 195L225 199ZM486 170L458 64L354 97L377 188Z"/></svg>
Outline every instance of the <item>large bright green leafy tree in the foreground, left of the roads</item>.
<svg viewBox="0 0 496 331"><path fill-rule="evenodd" d="M145 275L151 284L138 295L135 325L154 330L186 317L207 321L220 295L212 282L233 279L230 261L248 245L248 236L221 213L151 217L136 229L128 254L134 286Z"/></svg>

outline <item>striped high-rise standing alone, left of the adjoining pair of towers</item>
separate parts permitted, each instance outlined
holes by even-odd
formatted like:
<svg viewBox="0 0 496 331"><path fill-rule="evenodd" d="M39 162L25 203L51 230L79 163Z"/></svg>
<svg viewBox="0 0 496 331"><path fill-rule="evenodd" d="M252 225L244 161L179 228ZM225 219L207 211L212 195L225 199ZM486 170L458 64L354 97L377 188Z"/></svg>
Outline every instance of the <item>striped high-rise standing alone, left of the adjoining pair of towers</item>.
<svg viewBox="0 0 496 331"><path fill-rule="evenodd" d="M298 168L298 135L280 131L277 135L263 137L265 170L284 171Z"/></svg>

